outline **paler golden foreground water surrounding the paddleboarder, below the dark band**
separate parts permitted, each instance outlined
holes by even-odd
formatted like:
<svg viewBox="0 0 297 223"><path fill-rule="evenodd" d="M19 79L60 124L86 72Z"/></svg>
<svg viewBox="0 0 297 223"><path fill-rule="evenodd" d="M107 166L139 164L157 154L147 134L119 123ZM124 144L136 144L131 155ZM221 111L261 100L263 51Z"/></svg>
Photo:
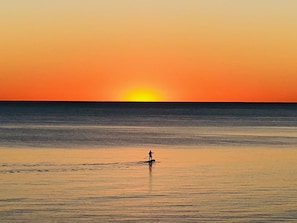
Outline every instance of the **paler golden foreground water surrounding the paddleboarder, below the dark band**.
<svg viewBox="0 0 297 223"><path fill-rule="evenodd" d="M1 222L290 222L294 149L0 150ZM5 159L3 159L5 158Z"/></svg>

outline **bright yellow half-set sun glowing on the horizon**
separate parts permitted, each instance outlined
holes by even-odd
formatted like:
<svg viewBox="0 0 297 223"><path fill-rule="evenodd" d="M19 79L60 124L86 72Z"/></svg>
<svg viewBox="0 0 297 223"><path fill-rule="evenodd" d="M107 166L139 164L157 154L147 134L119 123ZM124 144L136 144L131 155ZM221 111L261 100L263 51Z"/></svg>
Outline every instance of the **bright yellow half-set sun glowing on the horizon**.
<svg viewBox="0 0 297 223"><path fill-rule="evenodd" d="M134 88L127 91L123 95L124 101L135 101L135 102L157 102L162 101L162 95L156 90L149 88Z"/></svg>

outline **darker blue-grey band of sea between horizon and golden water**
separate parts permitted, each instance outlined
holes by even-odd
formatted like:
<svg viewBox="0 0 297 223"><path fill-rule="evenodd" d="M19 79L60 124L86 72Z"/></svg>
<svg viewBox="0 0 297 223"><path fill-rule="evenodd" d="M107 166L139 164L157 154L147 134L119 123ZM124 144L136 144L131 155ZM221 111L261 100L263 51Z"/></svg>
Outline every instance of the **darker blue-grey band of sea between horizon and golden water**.
<svg viewBox="0 0 297 223"><path fill-rule="evenodd" d="M296 147L297 104L0 103L0 146Z"/></svg>

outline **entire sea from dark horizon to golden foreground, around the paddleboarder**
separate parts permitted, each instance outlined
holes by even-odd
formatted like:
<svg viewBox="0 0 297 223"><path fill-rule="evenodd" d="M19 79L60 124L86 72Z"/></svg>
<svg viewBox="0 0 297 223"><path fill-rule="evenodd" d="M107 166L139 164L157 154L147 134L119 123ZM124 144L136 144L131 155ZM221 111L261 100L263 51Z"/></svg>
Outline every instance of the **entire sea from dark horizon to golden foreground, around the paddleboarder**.
<svg viewBox="0 0 297 223"><path fill-rule="evenodd" d="M0 102L0 222L296 222L296 114L294 103Z"/></svg>

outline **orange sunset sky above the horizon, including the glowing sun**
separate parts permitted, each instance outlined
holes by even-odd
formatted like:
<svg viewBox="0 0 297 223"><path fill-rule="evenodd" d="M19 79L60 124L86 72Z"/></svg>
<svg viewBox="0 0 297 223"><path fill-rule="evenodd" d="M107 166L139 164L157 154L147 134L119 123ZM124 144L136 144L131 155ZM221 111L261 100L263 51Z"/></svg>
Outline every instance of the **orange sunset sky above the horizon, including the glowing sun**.
<svg viewBox="0 0 297 223"><path fill-rule="evenodd" d="M297 102L296 0L0 2L0 100Z"/></svg>

